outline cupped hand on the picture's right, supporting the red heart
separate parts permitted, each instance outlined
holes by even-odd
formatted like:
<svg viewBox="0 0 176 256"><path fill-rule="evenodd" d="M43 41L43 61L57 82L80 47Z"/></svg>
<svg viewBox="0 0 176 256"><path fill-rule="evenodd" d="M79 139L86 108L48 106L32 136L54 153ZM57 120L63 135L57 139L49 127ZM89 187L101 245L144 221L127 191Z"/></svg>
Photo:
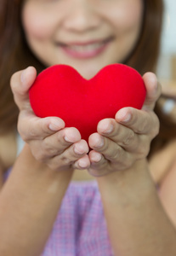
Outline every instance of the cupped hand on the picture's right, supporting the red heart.
<svg viewBox="0 0 176 256"><path fill-rule="evenodd" d="M159 131L159 121L153 112L161 94L155 74L145 73L146 98L141 110L122 108L115 119L103 119L96 133L89 137L88 172L95 177L127 170L137 160L145 159L150 142Z"/></svg>

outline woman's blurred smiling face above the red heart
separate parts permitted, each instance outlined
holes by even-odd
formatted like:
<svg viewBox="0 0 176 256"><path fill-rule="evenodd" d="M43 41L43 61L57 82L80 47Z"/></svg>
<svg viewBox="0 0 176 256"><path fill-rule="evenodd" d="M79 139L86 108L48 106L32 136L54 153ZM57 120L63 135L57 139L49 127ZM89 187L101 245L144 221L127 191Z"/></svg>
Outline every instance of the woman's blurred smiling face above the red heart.
<svg viewBox="0 0 176 256"><path fill-rule="evenodd" d="M142 0L26 0L26 40L44 65L67 64L90 79L122 62L135 46Z"/></svg>

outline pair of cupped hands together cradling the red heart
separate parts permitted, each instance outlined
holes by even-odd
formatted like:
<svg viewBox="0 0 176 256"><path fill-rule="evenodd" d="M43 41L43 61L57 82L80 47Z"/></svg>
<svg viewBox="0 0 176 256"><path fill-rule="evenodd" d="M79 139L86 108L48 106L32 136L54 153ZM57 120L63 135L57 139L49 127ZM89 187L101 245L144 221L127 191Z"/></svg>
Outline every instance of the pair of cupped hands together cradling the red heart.
<svg viewBox="0 0 176 256"><path fill-rule="evenodd" d="M26 77L26 79L21 80L21 77ZM113 172L114 169L126 169L133 165L134 160L143 158L148 154L150 140L156 136L158 131L158 119L147 108L154 97L152 93L157 88L156 76L153 73L146 73L144 76L148 96L143 110L122 108L116 113L115 119L100 121L98 132L89 137L89 146L94 149L89 154L88 145L81 139L76 128L64 128L65 124L62 119L54 117L40 119L32 112L27 92L35 78L36 70L33 67L28 67L23 73L15 73L11 79L11 84L14 101L20 108L18 125L20 135L31 146L31 152L37 160L47 162L48 166L54 170L58 170L58 168L59 170L62 168L89 168L89 172L92 174L94 174L95 166L95 169L99 170L100 173L94 175L99 176L105 170L106 172ZM20 84L23 92L20 91ZM20 92L23 98L19 98L16 91ZM156 91L158 96L160 89L156 89ZM151 98L150 101L148 97ZM151 106L154 107L154 104ZM133 126L135 119L138 119L139 128ZM148 126L151 122L155 123L151 126L152 128ZM58 125L57 127L54 126L54 131L49 128L56 124ZM126 127L127 124L129 124L129 129ZM110 127L112 128L111 132ZM103 144L102 141L104 141ZM145 150L143 143L145 143ZM119 145L117 146L117 144ZM127 166L124 166L124 160L126 163L128 162Z"/></svg>

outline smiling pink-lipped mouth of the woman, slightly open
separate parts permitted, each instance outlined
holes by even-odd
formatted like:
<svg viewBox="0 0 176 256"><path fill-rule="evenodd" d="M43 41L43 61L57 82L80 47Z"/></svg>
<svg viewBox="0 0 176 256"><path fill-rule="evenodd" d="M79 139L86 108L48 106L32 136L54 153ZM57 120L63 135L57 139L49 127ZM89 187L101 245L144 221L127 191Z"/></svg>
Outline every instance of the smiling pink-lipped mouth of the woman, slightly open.
<svg viewBox="0 0 176 256"><path fill-rule="evenodd" d="M108 47L111 38L107 38L101 41L92 41L88 43L71 43L71 44L57 44L66 55L70 55L74 58L91 58L99 55Z"/></svg>

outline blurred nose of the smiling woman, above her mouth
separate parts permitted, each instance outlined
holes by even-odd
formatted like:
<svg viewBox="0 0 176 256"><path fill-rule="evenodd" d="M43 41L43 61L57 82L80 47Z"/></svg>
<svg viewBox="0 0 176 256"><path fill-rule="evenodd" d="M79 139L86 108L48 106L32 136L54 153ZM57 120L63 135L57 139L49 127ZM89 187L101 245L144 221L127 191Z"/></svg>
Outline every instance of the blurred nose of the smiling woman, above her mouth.
<svg viewBox="0 0 176 256"><path fill-rule="evenodd" d="M67 30L85 32L97 28L101 18L94 6L88 0L72 0L63 20L63 26Z"/></svg>

